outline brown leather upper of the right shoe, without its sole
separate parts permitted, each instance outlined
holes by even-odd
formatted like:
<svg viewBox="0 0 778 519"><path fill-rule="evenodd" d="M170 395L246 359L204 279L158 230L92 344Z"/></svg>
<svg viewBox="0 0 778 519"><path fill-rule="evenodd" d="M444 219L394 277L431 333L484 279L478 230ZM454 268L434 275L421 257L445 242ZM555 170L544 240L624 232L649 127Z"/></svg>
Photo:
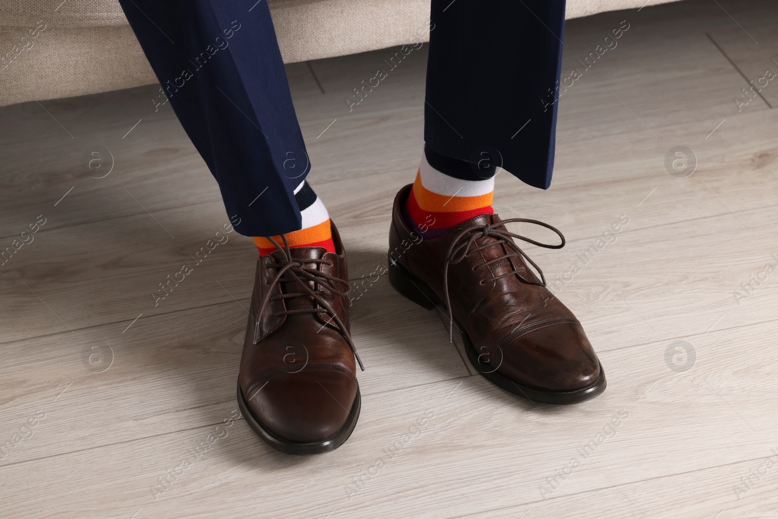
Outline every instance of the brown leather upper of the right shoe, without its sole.
<svg viewBox="0 0 778 519"><path fill-rule="evenodd" d="M394 200L390 252L443 300L443 265L451 242L464 229L500 219L477 216L440 237L425 239L408 227L402 215L410 188L403 188ZM478 233L471 231L468 237L474 232ZM450 263L448 270L451 309L479 360L488 366L482 369L545 391L577 391L594 384L600 375L599 361L580 322L545 286L520 279L540 282L519 255L486 265L509 254L508 247L496 242L492 236L476 238L468 247L471 252ZM514 271L517 274L506 275Z"/></svg>

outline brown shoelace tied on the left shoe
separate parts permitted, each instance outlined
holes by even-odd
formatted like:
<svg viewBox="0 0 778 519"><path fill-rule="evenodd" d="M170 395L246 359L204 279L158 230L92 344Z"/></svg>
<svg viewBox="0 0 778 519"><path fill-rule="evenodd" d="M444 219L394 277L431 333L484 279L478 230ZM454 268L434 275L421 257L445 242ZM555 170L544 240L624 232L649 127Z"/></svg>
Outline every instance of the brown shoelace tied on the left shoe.
<svg viewBox="0 0 778 519"><path fill-rule="evenodd" d="M345 324L343 324L343 321L340 317L338 317L338 314L335 312L335 310L333 310L330 304L322 297L323 294L348 296L351 292L351 285L349 285L348 281L338 279L334 275L330 275L327 272L321 272L321 270L315 267L308 267L304 265L306 263L313 263L314 265L324 264L332 266L332 261L320 258L305 258L304 260L293 258L291 251L289 251L289 243L286 241L286 236L282 234L281 238L284 242L283 247L279 245L279 243L276 242L272 237L268 237L268 240L270 240L279 251L282 251L284 258L280 263L273 262L268 265L268 267L278 268L278 272L275 273L273 279L268 283L268 289L265 292L265 297L262 298L262 303L259 307L259 312L257 314L258 317L265 312L265 308L272 301L304 296L312 298L314 301L316 301L316 303L318 303L318 307L314 306L312 308L282 310L279 312L272 312L272 316L281 317L282 315L292 314L328 314L330 318L324 325L328 324L330 321L335 321L335 324L338 324L338 328L340 328L345 341L349 343L349 347L354 353L356 361L359 363L359 368L364 371L365 366L363 366L362 359L359 359L359 353L356 352L356 345L354 345L354 342L352 341L349 330L345 327ZM321 289L311 289L307 283L309 281L314 282L314 288L320 287ZM271 296L273 289L275 289L275 286L277 286L280 282L297 282L299 286L302 286L303 289L305 289L305 292L281 293L276 294L275 296ZM345 286L345 289L339 290L337 288L338 285ZM322 326L322 328L324 328L324 326Z"/></svg>

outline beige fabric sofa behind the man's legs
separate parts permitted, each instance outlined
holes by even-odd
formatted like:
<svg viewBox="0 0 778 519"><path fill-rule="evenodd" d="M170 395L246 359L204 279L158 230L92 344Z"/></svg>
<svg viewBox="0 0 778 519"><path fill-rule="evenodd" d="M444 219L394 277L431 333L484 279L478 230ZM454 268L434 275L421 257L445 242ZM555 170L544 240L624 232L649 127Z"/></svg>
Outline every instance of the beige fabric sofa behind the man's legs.
<svg viewBox="0 0 778 519"><path fill-rule="evenodd" d="M429 0L260 1L287 63L410 43L429 20ZM567 0L566 16L672 1ZM0 106L153 82L117 0L0 0Z"/></svg>

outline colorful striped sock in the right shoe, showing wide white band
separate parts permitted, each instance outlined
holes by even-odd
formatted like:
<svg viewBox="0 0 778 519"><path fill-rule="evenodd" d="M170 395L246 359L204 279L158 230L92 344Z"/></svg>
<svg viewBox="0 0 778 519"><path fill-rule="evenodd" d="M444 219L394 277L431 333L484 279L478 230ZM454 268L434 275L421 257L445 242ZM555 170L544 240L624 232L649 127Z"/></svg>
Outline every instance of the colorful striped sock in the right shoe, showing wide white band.
<svg viewBox="0 0 778 519"><path fill-rule="evenodd" d="M465 220L492 214L496 167L479 171L471 163L439 155L429 146L403 213L405 221L425 238L436 238Z"/></svg>

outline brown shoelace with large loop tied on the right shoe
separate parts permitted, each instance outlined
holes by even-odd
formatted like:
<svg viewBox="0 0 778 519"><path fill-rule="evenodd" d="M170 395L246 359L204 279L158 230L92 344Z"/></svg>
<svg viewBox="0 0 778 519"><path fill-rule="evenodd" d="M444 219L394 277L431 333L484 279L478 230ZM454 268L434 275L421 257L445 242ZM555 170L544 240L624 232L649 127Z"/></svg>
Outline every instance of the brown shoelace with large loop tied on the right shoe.
<svg viewBox="0 0 778 519"><path fill-rule="evenodd" d="M562 240L562 243L558 245L541 244L540 242L532 240L531 238L521 236L520 234L511 233L508 230L500 230L497 228L499 226L503 226L506 223L533 223L534 225L545 227L546 229L554 231L554 233L556 233L556 235L559 236L559 238ZM489 241L489 243L481 245L480 247L471 248L471 245L475 243L475 240L478 240L478 238L485 238L485 237L496 238L496 240ZM533 219L509 218L509 219L501 220L498 223L476 224L462 229L457 234L457 236L454 237L454 240L451 240L451 244L449 245L448 251L446 253L446 261L443 263L443 296L444 299L446 300L446 307L448 309L449 342L454 342L454 310L452 310L451 308L450 294L448 292L449 265L456 265L460 261L464 260L464 258L467 258L470 254L473 254L478 251L482 251L485 248L493 247L499 244L505 244L507 249L506 254L499 256L499 258L492 258L489 261L483 261L482 263L475 265L473 268L475 270L478 270L479 268L488 267L489 265L495 263L496 261L503 261L506 260L507 258L520 256L521 258L527 260L529 264L532 265L534 269L538 272L538 274L540 274L541 281L538 282L538 280L536 279L530 279L524 277L523 275L521 275L521 272L516 268L513 268L512 271L506 272L505 274L501 274L501 275L492 274L492 279L505 278L515 274L522 282L525 282L529 285L546 286L545 275L543 275L543 271L541 270L541 268L538 267L538 265L534 261L532 261L529 256L527 256L527 253L521 250L521 247L519 247L516 244L516 242L513 241L513 238L516 238L517 240L526 241L529 244L538 245L538 247L545 247L547 249L561 249L562 247L565 246L565 237L558 229L556 229L554 226L548 225L548 223L538 222L538 220L533 220ZM483 284L483 281L481 282L481 284Z"/></svg>

